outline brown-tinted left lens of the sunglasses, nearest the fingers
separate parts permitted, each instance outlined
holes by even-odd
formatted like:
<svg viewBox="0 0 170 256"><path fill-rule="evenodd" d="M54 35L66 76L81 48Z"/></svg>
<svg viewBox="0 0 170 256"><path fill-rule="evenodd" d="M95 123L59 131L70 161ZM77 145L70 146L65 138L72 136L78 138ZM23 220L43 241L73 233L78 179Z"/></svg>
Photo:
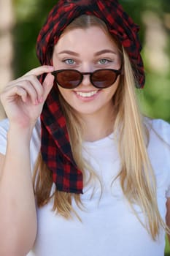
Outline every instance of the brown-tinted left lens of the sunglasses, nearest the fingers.
<svg viewBox="0 0 170 256"><path fill-rule="evenodd" d="M75 70L63 70L57 74L57 83L66 89L73 89L80 84L81 74Z"/></svg>

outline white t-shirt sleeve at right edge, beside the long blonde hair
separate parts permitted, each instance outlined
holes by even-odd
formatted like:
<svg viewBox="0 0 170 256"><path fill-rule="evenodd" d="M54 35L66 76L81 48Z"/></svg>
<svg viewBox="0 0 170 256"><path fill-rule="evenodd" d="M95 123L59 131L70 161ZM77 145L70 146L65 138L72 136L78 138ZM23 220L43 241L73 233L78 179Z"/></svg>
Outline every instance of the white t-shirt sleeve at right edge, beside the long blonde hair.
<svg viewBox="0 0 170 256"><path fill-rule="evenodd" d="M152 120L152 127L163 140L160 154L163 156L163 168L167 173L166 197L170 197L170 124L161 119L155 119Z"/></svg>

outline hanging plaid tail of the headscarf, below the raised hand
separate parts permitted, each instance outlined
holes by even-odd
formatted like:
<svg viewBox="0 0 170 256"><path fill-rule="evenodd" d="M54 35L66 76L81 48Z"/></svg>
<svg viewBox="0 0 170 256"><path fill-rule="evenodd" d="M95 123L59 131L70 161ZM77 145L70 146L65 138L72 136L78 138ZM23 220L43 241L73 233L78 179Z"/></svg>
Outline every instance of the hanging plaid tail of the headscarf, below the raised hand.
<svg viewBox="0 0 170 256"><path fill-rule="evenodd" d="M53 86L47 97L42 110L41 125L42 159L53 172L56 188L63 192L82 193L82 172L78 170L72 157L57 86Z"/></svg>

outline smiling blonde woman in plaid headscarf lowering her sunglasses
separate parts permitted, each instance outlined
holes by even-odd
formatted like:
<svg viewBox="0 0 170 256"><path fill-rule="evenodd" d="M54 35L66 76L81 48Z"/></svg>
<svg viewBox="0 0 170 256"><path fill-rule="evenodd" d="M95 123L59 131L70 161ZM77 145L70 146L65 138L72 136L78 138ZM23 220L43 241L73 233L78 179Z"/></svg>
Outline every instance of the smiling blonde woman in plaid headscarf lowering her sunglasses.
<svg viewBox="0 0 170 256"><path fill-rule="evenodd" d="M163 255L170 127L136 103L138 30L117 1L53 7L1 94L0 255Z"/></svg>

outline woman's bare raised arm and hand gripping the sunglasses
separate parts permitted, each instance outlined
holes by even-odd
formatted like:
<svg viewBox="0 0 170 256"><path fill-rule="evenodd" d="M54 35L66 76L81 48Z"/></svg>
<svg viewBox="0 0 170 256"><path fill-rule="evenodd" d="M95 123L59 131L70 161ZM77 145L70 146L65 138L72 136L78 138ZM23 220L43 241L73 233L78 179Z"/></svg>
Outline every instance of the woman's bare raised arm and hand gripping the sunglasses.
<svg viewBox="0 0 170 256"><path fill-rule="evenodd" d="M0 154L0 255L25 256L36 238L36 207L31 178L30 140L47 94L48 74L41 85L36 76L51 72L43 66L14 80L1 94L9 118L6 155Z"/></svg>

